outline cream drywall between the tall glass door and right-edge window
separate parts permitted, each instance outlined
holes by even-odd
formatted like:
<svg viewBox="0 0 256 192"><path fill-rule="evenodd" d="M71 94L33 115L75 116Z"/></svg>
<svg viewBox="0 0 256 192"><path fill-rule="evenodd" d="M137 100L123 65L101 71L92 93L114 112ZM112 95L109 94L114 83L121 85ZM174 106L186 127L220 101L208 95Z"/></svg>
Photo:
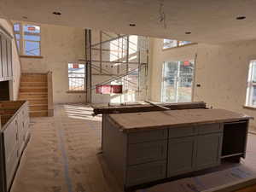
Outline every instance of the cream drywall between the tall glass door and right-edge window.
<svg viewBox="0 0 256 192"><path fill-rule="evenodd" d="M225 108L256 117L256 111L244 108L249 61L256 59L256 41L233 44L201 44L195 73L195 101L203 100L213 108ZM251 125L256 126L255 120Z"/></svg>

